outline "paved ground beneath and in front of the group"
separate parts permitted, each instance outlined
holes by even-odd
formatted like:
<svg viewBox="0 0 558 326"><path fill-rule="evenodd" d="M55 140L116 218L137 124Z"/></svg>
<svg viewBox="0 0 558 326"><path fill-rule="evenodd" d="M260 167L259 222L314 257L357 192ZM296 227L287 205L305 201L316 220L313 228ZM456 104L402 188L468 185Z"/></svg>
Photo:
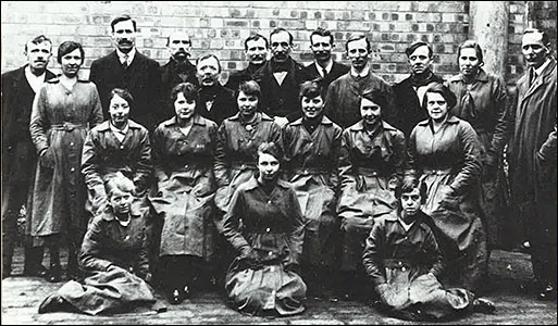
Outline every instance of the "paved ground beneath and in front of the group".
<svg viewBox="0 0 558 326"><path fill-rule="evenodd" d="M245 316L227 308L216 293L198 293L179 305L168 305L169 311L156 313L127 313L114 316L88 316L77 313L38 314L40 302L62 284L49 284L38 277L18 276L22 272L23 254L18 249L15 256L14 276L2 280L2 324L280 324L280 325L370 325L420 324L381 315L368 304L355 301L320 301L309 299L307 311L298 316L285 318L262 318ZM48 262L48 260L46 260ZM556 301L542 302L533 294L524 293L519 284L531 277L529 255L496 250L491 264L491 280L485 297L496 304L492 315L472 314L464 318L441 324L483 325L556 325ZM423 323L432 324L432 323Z"/></svg>

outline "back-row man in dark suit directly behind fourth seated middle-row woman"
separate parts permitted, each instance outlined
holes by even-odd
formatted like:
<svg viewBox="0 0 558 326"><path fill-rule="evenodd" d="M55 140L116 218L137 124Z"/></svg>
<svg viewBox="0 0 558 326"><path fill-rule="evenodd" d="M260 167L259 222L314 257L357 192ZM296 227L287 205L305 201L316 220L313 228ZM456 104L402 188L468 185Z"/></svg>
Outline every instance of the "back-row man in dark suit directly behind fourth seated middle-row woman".
<svg viewBox="0 0 558 326"><path fill-rule="evenodd" d="M314 62L305 67L310 78L322 88L322 99L327 95L327 87L333 80L349 72L343 63L333 61L332 50L335 48L330 30L318 27L310 35L310 49L314 53Z"/></svg>

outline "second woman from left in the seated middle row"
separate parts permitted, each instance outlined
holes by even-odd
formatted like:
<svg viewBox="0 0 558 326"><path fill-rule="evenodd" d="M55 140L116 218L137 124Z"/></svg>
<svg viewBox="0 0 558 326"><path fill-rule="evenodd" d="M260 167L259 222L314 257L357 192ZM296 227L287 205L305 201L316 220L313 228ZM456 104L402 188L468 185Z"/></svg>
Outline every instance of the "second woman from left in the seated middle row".
<svg viewBox="0 0 558 326"><path fill-rule="evenodd" d="M159 255L169 301L178 304L190 293L199 267L214 250L213 160L218 126L195 112L197 87L189 83L171 92L175 116L153 133L158 191L151 197L164 220Z"/></svg>

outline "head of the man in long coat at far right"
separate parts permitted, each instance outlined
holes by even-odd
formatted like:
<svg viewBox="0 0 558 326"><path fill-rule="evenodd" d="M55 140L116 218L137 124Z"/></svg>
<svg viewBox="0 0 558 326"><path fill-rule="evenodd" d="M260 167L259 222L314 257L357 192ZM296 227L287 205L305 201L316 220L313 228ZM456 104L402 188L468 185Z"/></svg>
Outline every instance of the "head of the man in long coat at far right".
<svg viewBox="0 0 558 326"><path fill-rule="evenodd" d="M523 32L521 52L529 67L538 68L550 55L550 40L541 29L529 28Z"/></svg>

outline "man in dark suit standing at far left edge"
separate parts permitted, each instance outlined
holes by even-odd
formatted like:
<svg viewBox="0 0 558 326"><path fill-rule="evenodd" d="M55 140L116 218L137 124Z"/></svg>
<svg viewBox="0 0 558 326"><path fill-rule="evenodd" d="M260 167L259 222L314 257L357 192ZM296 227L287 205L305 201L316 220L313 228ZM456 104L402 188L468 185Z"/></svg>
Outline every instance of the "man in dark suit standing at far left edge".
<svg viewBox="0 0 558 326"><path fill-rule="evenodd" d="M37 154L29 135L35 93L55 75L47 70L52 41L40 35L25 43L27 63L2 74L2 278L12 269L17 215L27 200ZM24 274L45 276L42 247L25 248Z"/></svg>

